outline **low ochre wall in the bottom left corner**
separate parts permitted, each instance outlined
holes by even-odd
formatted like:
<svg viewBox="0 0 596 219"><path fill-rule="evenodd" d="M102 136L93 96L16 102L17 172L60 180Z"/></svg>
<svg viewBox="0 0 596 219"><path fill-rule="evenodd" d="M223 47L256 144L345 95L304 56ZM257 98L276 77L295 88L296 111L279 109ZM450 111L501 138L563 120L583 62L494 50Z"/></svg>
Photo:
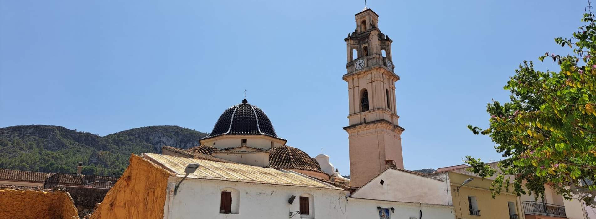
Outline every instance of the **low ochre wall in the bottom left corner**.
<svg viewBox="0 0 596 219"><path fill-rule="evenodd" d="M67 192L0 189L0 219L77 219L77 214Z"/></svg>

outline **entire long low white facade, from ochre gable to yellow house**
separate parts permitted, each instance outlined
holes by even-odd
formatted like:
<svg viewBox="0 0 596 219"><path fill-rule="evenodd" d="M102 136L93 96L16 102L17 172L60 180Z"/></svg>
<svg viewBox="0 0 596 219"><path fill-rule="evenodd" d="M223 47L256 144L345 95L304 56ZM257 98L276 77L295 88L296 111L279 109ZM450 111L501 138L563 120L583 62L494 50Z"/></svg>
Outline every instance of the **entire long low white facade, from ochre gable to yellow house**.
<svg viewBox="0 0 596 219"><path fill-rule="evenodd" d="M168 192L179 182L180 177L170 177ZM238 214L220 214L221 191L237 189L239 197L232 199L238 205ZM361 198L346 198L347 192L336 189L319 189L301 186L275 186L256 183L227 182L222 180L185 179L178 189L166 199L164 218L289 218L289 212L299 211L300 195L312 195L311 212L314 215L302 218L378 218L377 207L395 208L392 219L423 218L454 219L454 207L410 202L381 201ZM293 204L288 204L295 195ZM170 198L172 197L172 198ZM171 202L170 202L171 199ZM237 201L240 200L240 202ZM170 214L168 214L170 212ZM296 215L293 218L300 218Z"/></svg>

